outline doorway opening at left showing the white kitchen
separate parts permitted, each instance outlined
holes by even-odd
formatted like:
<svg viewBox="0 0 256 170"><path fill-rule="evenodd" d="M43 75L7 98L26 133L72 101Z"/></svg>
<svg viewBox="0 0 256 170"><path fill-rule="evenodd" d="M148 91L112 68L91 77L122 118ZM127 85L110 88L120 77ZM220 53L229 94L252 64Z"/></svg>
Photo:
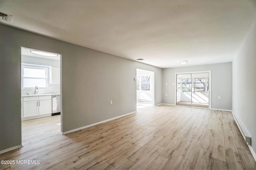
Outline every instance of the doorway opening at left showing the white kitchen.
<svg viewBox="0 0 256 170"><path fill-rule="evenodd" d="M21 47L22 143L61 131L61 55Z"/></svg>

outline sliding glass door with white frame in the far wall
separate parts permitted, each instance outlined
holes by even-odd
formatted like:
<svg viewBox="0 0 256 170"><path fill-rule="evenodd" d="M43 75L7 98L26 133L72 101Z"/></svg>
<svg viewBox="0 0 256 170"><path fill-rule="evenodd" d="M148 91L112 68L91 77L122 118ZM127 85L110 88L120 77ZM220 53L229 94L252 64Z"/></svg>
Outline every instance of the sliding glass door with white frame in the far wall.
<svg viewBox="0 0 256 170"><path fill-rule="evenodd" d="M176 105L211 108L211 71L175 73Z"/></svg>

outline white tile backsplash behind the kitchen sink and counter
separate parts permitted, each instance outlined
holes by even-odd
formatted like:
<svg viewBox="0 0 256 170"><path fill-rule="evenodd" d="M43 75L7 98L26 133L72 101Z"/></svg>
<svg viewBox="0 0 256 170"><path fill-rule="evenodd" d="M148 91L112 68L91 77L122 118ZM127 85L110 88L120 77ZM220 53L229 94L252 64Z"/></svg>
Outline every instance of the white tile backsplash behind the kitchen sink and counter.
<svg viewBox="0 0 256 170"><path fill-rule="evenodd" d="M21 90L21 95L34 94L34 89ZM48 84L48 88L38 88L37 94L58 94L60 93L60 84Z"/></svg>

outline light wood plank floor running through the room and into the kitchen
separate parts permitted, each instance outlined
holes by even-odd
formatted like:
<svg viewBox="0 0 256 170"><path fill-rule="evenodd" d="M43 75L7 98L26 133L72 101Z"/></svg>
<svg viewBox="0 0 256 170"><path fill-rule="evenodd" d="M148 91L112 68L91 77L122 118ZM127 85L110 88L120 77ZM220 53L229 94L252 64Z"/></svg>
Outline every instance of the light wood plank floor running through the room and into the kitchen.
<svg viewBox="0 0 256 170"><path fill-rule="evenodd" d="M22 122L24 147L0 169L256 169L232 113L157 106L60 135L60 116Z"/></svg>

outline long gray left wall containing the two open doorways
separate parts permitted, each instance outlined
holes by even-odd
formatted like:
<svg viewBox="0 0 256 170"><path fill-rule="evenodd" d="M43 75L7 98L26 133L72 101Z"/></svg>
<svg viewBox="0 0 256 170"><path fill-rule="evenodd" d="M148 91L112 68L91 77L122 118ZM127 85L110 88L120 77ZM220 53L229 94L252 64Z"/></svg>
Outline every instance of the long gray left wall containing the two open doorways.
<svg viewBox="0 0 256 170"><path fill-rule="evenodd" d="M21 145L21 47L62 54L62 132L136 111L136 68L162 69L0 24L0 151ZM113 105L110 105L113 100Z"/></svg>

